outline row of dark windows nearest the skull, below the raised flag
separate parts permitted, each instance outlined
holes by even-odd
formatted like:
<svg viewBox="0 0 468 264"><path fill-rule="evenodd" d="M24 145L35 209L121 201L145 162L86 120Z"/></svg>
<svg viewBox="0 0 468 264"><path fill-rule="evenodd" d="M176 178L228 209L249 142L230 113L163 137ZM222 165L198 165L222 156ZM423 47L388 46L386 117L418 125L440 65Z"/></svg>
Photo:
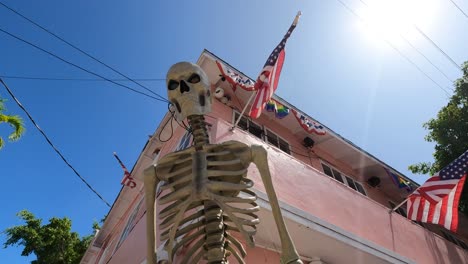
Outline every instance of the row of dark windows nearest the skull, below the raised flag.
<svg viewBox="0 0 468 264"><path fill-rule="evenodd" d="M240 114L238 112L234 112L234 122L237 121L239 116ZM289 149L289 143L286 142L286 140L280 138L277 134L275 134L273 131L269 130L268 128L262 127L254 123L252 120L248 119L247 117L243 116L239 120L239 123L237 123L237 126L240 129L244 131L248 131L250 134L269 143L270 145L273 145L281 149L282 151L288 154L291 154L291 150Z"/></svg>

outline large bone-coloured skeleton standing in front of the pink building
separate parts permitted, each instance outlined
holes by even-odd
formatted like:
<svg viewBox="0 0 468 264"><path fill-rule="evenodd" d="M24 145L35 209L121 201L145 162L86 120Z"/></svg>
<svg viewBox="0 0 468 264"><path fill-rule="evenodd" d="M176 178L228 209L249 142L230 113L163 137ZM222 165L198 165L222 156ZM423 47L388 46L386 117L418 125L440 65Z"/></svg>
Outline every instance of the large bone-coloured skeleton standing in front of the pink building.
<svg viewBox="0 0 468 264"><path fill-rule="evenodd" d="M205 114L211 111L210 83L195 64L180 62L167 74L168 97L176 109L176 118L187 117L193 133L193 146L161 158L145 170L147 207L147 261L225 264L233 255L244 263L245 249L233 233L240 233L254 247L253 236L259 219L256 195L249 190L252 180L247 168L254 163L261 175L281 240L281 263L302 263L286 229L268 169L267 152L261 146L237 141L210 144ZM155 253L156 186L164 182L164 195L158 206L161 219L160 241L163 249Z"/></svg>

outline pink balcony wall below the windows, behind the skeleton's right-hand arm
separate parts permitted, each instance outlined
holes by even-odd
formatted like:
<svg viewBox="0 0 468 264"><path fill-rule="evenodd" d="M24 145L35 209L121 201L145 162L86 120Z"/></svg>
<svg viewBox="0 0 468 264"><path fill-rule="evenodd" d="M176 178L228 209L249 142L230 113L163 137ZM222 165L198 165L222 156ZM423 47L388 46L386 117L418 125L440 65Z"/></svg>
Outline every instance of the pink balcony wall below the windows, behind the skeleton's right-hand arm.
<svg viewBox="0 0 468 264"><path fill-rule="evenodd" d="M239 140L264 145L269 168L288 228L299 253L325 263L467 263L467 252L440 236L393 213L372 199L338 183L315 168L254 136L218 120L213 141ZM257 242L280 248L265 189L255 165L260 213Z"/></svg>

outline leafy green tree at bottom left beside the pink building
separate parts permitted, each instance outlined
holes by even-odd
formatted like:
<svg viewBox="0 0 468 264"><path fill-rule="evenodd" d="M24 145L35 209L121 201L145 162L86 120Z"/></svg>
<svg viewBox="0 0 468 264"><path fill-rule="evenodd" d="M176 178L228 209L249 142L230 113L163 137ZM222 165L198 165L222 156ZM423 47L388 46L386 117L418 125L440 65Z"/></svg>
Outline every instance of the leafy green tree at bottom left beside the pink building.
<svg viewBox="0 0 468 264"><path fill-rule="evenodd" d="M42 220L27 210L17 215L25 224L4 231L7 236L4 247L24 246L22 256L34 253L37 258L32 264L80 263L93 238L93 235L80 238L78 233L71 232L71 220L66 217L53 217L42 225Z"/></svg>

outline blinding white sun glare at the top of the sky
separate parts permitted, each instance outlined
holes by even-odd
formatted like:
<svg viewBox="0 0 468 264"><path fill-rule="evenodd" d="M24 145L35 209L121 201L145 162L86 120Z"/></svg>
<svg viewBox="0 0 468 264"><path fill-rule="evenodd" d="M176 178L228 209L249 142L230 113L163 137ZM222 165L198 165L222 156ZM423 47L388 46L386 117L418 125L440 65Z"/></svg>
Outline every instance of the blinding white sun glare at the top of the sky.
<svg viewBox="0 0 468 264"><path fill-rule="evenodd" d="M415 34L413 25L429 28L435 22L437 11L435 0L362 0L361 3L365 3L359 10L365 31L393 44L403 41L400 35L411 38Z"/></svg>

